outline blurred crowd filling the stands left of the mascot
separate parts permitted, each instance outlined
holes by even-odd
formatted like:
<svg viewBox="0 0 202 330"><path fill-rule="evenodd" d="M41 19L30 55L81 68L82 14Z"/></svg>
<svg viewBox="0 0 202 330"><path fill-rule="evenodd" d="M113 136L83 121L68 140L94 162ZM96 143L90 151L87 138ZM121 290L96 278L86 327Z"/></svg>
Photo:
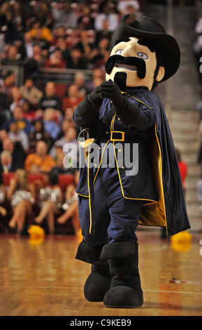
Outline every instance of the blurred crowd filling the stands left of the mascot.
<svg viewBox="0 0 202 330"><path fill-rule="evenodd" d="M80 128L73 122L73 111L105 79L110 37L120 18L126 13L131 20L142 15L142 4L141 0L1 1L1 232L23 234L26 225L34 223L53 234L71 219L72 230L78 233L78 169L71 163L78 161ZM20 85L13 66L23 68ZM71 84L38 85L38 72L51 68L74 69ZM85 70L91 70L91 79ZM68 167L66 143L77 150L68 154ZM61 176L72 178L66 187L60 185Z"/></svg>

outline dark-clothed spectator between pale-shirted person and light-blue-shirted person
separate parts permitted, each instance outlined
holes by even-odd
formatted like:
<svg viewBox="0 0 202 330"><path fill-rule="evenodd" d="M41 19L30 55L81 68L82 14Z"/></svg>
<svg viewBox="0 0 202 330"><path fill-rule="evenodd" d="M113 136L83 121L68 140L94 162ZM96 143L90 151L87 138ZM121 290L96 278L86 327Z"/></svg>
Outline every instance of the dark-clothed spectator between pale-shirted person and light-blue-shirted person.
<svg viewBox="0 0 202 330"><path fill-rule="evenodd" d="M34 121L34 127L31 133L29 133L29 148L31 152L36 151L36 144L38 141L43 140L47 144L48 150L52 145L52 138L50 134L44 131L43 121Z"/></svg>

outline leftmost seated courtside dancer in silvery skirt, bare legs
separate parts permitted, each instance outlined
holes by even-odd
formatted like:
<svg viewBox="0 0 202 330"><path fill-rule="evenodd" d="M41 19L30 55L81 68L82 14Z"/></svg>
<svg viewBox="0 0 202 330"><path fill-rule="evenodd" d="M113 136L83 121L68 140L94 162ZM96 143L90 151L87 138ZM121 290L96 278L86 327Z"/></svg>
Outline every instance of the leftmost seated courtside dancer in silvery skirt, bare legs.
<svg viewBox="0 0 202 330"><path fill-rule="evenodd" d="M35 201L34 185L28 182L24 169L17 169L15 178L10 179L7 198L13 208L13 216L8 225L11 228L17 227L17 234L20 234L26 217L32 216L32 205Z"/></svg>

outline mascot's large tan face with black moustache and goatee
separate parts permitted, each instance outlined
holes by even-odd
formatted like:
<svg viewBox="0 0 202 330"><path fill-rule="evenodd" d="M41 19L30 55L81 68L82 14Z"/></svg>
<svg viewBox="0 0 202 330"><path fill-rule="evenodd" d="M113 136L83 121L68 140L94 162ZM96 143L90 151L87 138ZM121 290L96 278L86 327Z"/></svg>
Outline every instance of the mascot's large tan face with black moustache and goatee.
<svg viewBox="0 0 202 330"><path fill-rule="evenodd" d="M124 91L126 86L145 86L152 89L157 57L148 41L125 37L117 41L106 62L106 80L113 80ZM159 67L156 80L164 77L164 67Z"/></svg>

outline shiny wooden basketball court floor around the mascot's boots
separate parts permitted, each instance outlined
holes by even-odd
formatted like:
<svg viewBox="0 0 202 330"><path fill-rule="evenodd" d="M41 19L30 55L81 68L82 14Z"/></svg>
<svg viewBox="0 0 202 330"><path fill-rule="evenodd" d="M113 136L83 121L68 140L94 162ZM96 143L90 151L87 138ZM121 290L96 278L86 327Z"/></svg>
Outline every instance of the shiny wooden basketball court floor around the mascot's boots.
<svg viewBox="0 0 202 330"><path fill-rule="evenodd" d="M137 309L85 300L90 265L74 258L78 238L46 237L36 245L29 237L1 235L0 315L201 316L202 235L192 235L187 252L174 251L159 231L139 230L137 235L144 292L144 305Z"/></svg>

